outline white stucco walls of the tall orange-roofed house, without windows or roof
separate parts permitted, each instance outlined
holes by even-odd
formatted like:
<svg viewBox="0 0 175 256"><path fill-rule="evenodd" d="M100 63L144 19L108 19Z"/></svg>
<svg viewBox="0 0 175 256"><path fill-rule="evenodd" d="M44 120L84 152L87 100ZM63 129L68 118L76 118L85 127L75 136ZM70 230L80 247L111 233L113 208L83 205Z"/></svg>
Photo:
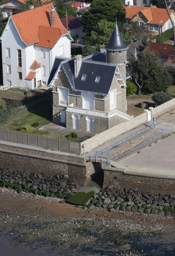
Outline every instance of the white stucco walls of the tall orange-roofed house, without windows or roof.
<svg viewBox="0 0 175 256"><path fill-rule="evenodd" d="M11 81L11 86L34 89L34 82L26 80L30 71L35 71L36 84L37 81L41 80L41 85L43 82L48 81L50 72L52 70L52 65L55 61L55 56L60 55L60 46L63 46L63 55L70 58L71 57L71 44L67 36L62 36L55 46L50 48L45 47L35 47L34 45L26 46L20 39L17 29L14 26L12 20L9 20L9 25L1 38L2 41L2 58L3 58L3 85L8 84L8 80ZM6 48L10 48L10 58L6 57ZM17 49L21 49L22 55L22 67L17 66ZM42 57L42 51L45 52L45 57ZM41 68L37 70L31 70L30 67L32 63L36 60L41 64ZM7 73L7 64L11 65L11 74ZM45 66L46 73L43 74L42 66ZM18 72L22 72L22 79L18 79ZM27 82L27 84L26 84Z"/></svg>

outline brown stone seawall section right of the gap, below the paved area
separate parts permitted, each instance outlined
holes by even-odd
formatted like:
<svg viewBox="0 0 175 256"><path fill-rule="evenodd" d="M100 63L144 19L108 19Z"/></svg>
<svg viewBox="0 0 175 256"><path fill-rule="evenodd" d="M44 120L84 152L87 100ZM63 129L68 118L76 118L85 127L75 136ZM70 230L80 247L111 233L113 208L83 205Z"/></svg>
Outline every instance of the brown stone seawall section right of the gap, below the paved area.
<svg viewBox="0 0 175 256"><path fill-rule="evenodd" d="M124 169L118 171L112 167L104 167L103 188L110 185L122 186L125 189L141 189L154 193L175 194L175 179L127 174Z"/></svg>

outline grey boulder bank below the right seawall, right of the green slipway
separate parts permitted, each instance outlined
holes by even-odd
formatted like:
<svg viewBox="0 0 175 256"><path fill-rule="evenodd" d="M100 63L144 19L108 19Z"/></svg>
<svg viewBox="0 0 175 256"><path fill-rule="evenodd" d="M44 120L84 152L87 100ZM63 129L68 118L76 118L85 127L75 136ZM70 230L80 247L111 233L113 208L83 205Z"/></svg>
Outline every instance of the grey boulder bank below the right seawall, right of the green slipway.
<svg viewBox="0 0 175 256"><path fill-rule="evenodd" d="M175 216L175 195L160 195L109 186L96 194L87 206L89 209L103 207L111 212L132 211L157 215Z"/></svg>

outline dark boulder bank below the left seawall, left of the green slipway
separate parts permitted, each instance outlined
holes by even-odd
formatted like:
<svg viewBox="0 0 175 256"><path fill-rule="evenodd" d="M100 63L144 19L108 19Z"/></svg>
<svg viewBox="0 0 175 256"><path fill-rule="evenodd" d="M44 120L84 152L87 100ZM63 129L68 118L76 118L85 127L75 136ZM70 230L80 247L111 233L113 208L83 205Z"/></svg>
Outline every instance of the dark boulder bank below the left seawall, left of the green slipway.
<svg viewBox="0 0 175 256"><path fill-rule="evenodd" d="M15 189L18 193L30 192L34 195L43 195L68 199L77 192L81 186L69 181L68 175L51 175L26 172L16 172L11 169L0 169L0 186Z"/></svg>

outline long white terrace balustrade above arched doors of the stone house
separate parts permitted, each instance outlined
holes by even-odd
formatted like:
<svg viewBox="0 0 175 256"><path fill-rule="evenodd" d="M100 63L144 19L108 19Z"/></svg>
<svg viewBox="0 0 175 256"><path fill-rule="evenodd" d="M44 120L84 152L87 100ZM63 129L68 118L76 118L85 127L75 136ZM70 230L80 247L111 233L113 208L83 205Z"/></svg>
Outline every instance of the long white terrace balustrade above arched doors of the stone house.
<svg viewBox="0 0 175 256"><path fill-rule="evenodd" d="M100 116L100 117L112 117L112 116L121 116L124 119L130 120L134 116L129 116L126 113L123 113L117 109L113 109L112 111L109 112L102 112L102 111L95 111L95 110L90 110L90 109L83 109L83 108L72 108L68 106L66 108L66 111L68 112L73 112L73 113L80 113L80 114L85 114L85 115L90 115L90 116Z"/></svg>

